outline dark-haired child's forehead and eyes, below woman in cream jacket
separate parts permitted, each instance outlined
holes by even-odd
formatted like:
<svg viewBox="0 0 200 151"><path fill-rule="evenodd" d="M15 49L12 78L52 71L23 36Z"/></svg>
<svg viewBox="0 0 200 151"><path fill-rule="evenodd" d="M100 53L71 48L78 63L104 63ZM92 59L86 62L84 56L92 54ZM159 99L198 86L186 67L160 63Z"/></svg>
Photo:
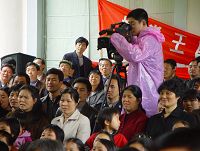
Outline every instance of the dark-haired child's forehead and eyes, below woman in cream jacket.
<svg viewBox="0 0 200 151"><path fill-rule="evenodd" d="M40 139L48 138L52 140L64 141L64 131L57 125L49 124L41 134Z"/></svg>

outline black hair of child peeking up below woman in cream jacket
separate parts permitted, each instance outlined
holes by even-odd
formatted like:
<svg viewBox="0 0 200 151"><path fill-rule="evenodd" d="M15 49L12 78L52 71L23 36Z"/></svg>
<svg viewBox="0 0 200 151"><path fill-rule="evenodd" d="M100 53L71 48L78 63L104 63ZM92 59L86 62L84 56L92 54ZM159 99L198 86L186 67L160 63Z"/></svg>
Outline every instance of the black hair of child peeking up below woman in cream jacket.
<svg viewBox="0 0 200 151"><path fill-rule="evenodd" d="M44 130L46 129L50 129L56 134L56 140L59 140L61 142L64 141L65 134L64 134L63 129L61 129L59 126L54 125L54 124L49 124L44 128Z"/></svg>

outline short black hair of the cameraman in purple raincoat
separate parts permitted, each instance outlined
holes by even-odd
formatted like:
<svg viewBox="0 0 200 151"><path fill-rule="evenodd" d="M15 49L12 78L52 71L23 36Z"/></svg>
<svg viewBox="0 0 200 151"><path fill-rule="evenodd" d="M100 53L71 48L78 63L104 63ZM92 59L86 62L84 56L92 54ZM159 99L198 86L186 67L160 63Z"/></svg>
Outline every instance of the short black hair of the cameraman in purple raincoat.
<svg viewBox="0 0 200 151"><path fill-rule="evenodd" d="M142 20L145 20L147 26L148 26L148 13L142 9L142 8L136 8L128 13L127 18L134 18L135 20L138 20L141 22Z"/></svg>

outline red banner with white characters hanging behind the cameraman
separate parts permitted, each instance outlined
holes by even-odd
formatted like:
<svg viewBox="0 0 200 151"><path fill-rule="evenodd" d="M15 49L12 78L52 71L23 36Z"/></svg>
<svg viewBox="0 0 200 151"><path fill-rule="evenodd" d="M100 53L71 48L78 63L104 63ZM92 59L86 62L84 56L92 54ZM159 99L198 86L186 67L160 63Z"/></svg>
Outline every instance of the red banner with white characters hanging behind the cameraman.
<svg viewBox="0 0 200 151"><path fill-rule="evenodd" d="M99 31L109 29L113 23L126 20L129 9L111 3L107 0L98 0ZM176 75L180 78L189 78L186 65L196 56L200 56L200 36L188 33L178 28L149 18L150 26L161 28L165 36L163 43L164 59L172 58L178 63Z"/></svg>

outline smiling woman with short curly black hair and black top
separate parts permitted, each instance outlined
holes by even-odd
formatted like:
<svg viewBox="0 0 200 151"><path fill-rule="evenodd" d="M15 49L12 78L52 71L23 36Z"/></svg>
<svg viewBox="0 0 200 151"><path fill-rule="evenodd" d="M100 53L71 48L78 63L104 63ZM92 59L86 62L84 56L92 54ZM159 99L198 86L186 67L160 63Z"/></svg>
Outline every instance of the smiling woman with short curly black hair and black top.
<svg viewBox="0 0 200 151"><path fill-rule="evenodd" d="M182 96L183 89L182 83L175 79L167 80L160 85L158 93L160 94L159 99L164 106L164 110L150 117L146 128L148 136L155 139L171 131L174 122L178 120L188 122L191 127L195 126L192 115L178 106L178 100Z"/></svg>

